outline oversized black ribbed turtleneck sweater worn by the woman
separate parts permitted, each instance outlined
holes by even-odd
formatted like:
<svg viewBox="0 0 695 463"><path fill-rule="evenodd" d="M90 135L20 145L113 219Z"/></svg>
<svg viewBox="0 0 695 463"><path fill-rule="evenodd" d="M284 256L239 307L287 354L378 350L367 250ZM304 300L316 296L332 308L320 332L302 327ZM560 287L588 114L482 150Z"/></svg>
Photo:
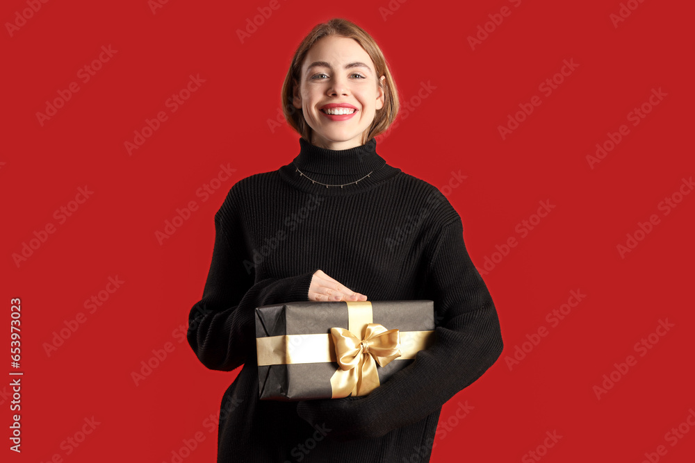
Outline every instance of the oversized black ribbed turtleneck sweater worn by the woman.
<svg viewBox="0 0 695 463"><path fill-rule="evenodd" d="M343 188L309 180L366 174ZM309 301L318 269L368 301L431 299L436 343L368 396L260 401L254 309ZM188 322L205 367L243 364L222 397L218 463L430 461L441 406L502 352L459 214L436 187L385 164L375 139L330 150L300 138L293 162L238 180L215 214L212 263Z"/></svg>

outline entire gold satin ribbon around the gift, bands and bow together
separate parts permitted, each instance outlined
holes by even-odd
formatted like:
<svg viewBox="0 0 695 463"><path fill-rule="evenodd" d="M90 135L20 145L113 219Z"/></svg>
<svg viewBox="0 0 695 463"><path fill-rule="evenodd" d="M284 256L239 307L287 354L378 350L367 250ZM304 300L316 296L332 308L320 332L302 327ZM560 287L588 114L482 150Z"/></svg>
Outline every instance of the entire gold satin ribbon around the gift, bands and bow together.
<svg viewBox="0 0 695 463"><path fill-rule="evenodd" d="M434 340L434 331L387 330L372 323L370 301L347 303L347 330L330 334L280 335L256 338L258 364L337 362L331 378L332 397L364 396L379 386L377 365L399 357L414 358Z"/></svg>

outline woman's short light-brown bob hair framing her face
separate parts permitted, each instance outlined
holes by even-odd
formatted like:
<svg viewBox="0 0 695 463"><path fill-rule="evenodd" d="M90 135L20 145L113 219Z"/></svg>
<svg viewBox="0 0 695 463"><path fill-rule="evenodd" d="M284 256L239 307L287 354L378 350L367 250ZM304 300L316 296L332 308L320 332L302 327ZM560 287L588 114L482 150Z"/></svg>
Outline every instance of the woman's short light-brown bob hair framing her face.
<svg viewBox="0 0 695 463"><path fill-rule="evenodd" d="M297 131L304 140L311 142L311 127L306 124L302 110L295 108L292 104L294 90L300 84L300 74L302 71L302 62L306 57L309 49L322 37L329 35L338 35L339 37L347 37L357 41L360 46L367 52L375 66L377 75L377 83L384 90L384 106L377 110L374 115L372 124L362 134L362 144L366 144L373 137L386 131L393 123L398 114L398 90L395 86L395 81L389 71L389 66L386 65L386 58L377 42L363 28L357 26L347 19L334 18L328 22L317 24L311 29L309 35L304 37L302 43L295 51L295 56L292 58L290 69L287 71L285 81L282 84L282 112L287 120L287 123ZM382 84L381 76L386 76Z"/></svg>

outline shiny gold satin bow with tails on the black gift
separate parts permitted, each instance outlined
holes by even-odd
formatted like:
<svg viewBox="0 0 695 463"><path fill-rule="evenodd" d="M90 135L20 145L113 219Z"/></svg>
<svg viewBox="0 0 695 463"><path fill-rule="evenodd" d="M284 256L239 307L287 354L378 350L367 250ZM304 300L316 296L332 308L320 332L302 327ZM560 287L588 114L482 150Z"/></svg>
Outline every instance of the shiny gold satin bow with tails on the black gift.
<svg viewBox="0 0 695 463"><path fill-rule="evenodd" d="M331 328L340 369L331 378L333 397L366 396L379 386L381 367L401 356L400 332L367 323L361 339L345 328ZM376 362L376 363L375 363Z"/></svg>

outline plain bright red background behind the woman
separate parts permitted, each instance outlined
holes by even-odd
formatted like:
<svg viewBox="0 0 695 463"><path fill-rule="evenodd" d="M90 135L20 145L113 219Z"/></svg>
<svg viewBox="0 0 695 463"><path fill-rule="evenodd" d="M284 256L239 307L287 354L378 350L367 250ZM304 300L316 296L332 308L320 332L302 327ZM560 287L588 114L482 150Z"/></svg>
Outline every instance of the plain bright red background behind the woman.
<svg viewBox="0 0 695 463"><path fill-rule="evenodd" d="M21 455L8 451L6 439L9 379L0 387L3 458L172 462L183 439L200 432L204 439L183 461L215 460L209 417L236 371L205 369L182 335L202 296L213 215L236 181L295 157L297 135L268 124L289 61L311 27L346 17L382 47L402 101L421 83L436 87L377 138L377 152L438 187L452 171L467 176L443 191L461 214L473 262L483 269L486 258L498 261L483 276L505 351L444 405L431 461L537 461L528 452L539 451L543 462L642 462L662 445L660 461L692 462L695 428L682 426L689 431L673 446L667 432L687 423L695 407L695 194L676 194L682 201L669 214L659 208L695 174L692 3L632 0L637 8L615 26L617 0L393 0L385 19L387 0L343 7L280 0L241 43L237 29L268 3L172 0L153 12L145 0L49 1L22 22L16 14L29 8L26 1L3 2L1 301L8 328L0 344L9 347L10 298L19 297L24 371ZM503 6L509 16L494 16ZM472 49L468 36L489 15L501 24L488 24L492 32ZM10 31L13 22L23 25ZM79 69L109 45L116 52L83 83ZM546 96L539 84L563 60L577 67ZM204 83L171 112L165 101L190 74ZM36 113L72 82L79 92L41 124ZM666 96L632 126L628 113L652 89ZM498 127L534 95L540 106L502 140ZM124 142L159 111L167 120L129 155ZM592 169L587 155L621 124L629 134ZM234 174L202 201L197 189L227 164ZM85 185L93 194L60 224L54 211ZM555 208L521 237L517 224L546 200ZM189 201L199 209L160 244L156 231ZM637 233L644 239L621 256L616 246L651 214L658 224ZM55 233L17 265L13 254L48 223ZM496 245L510 237L518 245L500 260ZM85 300L115 276L120 288L95 312L85 310ZM586 297L553 326L546 314L573 290ZM80 312L84 323L48 355L54 332ZM673 327L653 335L640 356L635 344L660 319ZM526 344L532 350L510 369L516 347L541 327L548 335ZM136 385L131 373L166 343L173 350ZM637 363L597 398L594 386L628 355ZM3 368L12 370L5 359ZM473 409L459 420L466 401ZM79 446L66 444L92 416L99 423L93 432ZM544 449L546 432L554 431L562 438Z"/></svg>

